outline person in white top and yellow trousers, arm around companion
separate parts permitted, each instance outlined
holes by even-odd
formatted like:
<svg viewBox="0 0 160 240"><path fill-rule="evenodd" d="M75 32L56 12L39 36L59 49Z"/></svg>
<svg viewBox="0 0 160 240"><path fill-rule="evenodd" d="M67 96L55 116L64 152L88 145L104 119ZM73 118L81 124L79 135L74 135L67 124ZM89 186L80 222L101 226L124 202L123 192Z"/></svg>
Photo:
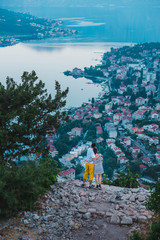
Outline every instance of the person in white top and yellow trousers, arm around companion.
<svg viewBox="0 0 160 240"><path fill-rule="evenodd" d="M99 157L102 156L101 154L97 154L97 156L95 156L93 151L95 147L96 147L96 143L92 143L91 147L88 148L88 151L87 151L87 158L85 163L85 171L83 176L82 187L85 186L85 182L88 178L88 175L89 175L89 188L94 187L94 185L92 184L93 177L94 177L94 160L97 160Z"/></svg>

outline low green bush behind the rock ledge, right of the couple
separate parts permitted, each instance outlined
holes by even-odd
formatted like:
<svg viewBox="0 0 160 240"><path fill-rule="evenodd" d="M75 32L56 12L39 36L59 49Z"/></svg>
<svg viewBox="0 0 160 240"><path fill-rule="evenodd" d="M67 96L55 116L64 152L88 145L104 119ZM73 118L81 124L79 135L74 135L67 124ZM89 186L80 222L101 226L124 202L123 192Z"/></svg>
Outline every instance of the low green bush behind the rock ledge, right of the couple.
<svg viewBox="0 0 160 240"><path fill-rule="evenodd" d="M113 181L114 186L126 187L126 188L138 188L137 174L133 175L132 172L127 169L126 172L120 172L117 179Z"/></svg>

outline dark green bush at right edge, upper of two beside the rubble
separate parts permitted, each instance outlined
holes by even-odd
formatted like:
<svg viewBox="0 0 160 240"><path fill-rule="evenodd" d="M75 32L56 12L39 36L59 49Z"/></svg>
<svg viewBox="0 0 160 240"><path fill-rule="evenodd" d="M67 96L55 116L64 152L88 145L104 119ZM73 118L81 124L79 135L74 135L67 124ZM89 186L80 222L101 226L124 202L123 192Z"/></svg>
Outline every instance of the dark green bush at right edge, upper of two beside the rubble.
<svg viewBox="0 0 160 240"><path fill-rule="evenodd" d="M156 213L160 213L160 180L157 181L154 186L154 190L151 192L147 202L147 208L155 211Z"/></svg>

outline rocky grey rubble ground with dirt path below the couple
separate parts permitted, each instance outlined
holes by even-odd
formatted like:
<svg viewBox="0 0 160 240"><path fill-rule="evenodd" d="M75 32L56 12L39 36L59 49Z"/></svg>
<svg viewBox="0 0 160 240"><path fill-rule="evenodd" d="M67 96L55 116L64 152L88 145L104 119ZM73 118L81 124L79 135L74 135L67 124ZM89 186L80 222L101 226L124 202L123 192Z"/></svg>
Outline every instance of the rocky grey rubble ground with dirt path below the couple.
<svg viewBox="0 0 160 240"><path fill-rule="evenodd" d="M0 224L3 240L127 240L153 216L145 207L150 193L103 185L81 187L78 180L51 186L34 212Z"/></svg>

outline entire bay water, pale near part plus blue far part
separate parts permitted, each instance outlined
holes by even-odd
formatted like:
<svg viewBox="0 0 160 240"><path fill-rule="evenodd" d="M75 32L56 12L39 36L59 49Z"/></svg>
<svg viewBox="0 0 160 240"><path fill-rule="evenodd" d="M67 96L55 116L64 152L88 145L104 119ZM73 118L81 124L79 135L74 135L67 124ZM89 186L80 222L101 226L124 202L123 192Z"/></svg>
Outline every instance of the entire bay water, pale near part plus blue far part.
<svg viewBox="0 0 160 240"><path fill-rule="evenodd" d="M69 87L67 106L80 106L102 89L85 78L64 76L65 70L100 63L112 46L160 41L159 0L1 0L0 7L62 19L63 26L79 31L75 37L0 48L1 82L6 76L20 81L23 71L35 70L49 93L54 95L55 80L62 89Z"/></svg>

